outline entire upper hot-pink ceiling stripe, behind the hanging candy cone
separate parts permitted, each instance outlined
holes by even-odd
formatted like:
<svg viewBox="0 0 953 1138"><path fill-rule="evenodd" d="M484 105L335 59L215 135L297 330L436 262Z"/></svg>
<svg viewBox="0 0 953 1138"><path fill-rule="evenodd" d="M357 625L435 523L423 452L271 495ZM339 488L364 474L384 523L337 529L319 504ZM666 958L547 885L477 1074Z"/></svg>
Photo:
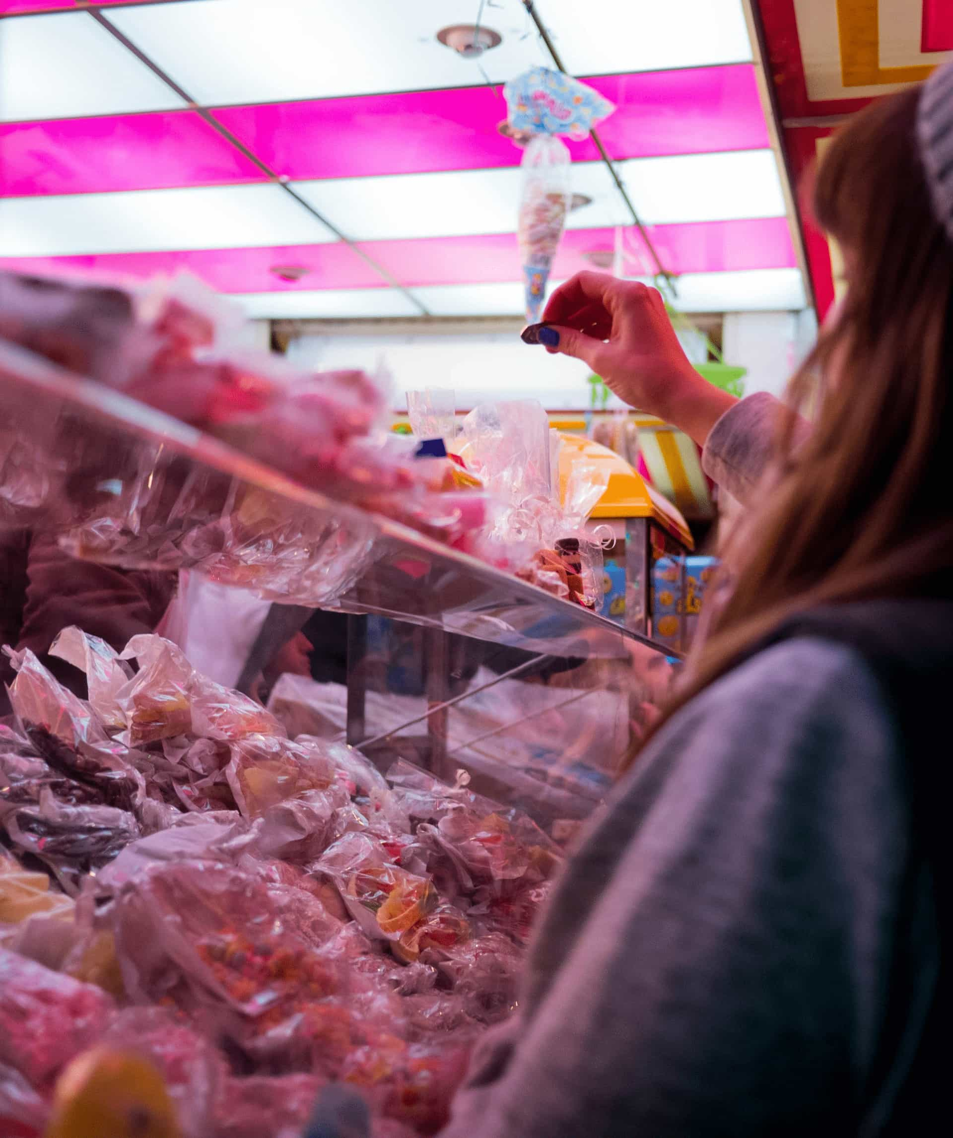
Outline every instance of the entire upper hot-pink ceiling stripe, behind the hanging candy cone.
<svg viewBox="0 0 953 1138"><path fill-rule="evenodd" d="M748 65L591 82L618 105L602 126L615 158L767 146ZM496 130L504 107L490 88L270 104L215 114L271 168L296 179L515 166L521 155ZM591 140L573 142L570 149L577 160L599 157ZM253 162L191 110L0 124L2 197L263 179Z"/></svg>

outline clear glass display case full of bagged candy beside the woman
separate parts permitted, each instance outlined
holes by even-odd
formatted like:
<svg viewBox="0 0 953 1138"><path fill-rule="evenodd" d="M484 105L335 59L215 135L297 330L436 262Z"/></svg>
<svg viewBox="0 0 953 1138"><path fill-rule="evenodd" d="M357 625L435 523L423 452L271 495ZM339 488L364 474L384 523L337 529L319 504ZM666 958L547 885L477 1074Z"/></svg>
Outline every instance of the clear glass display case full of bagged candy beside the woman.
<svg viewBox="0 0 953 1138"><path fill-rule="evenodd" d="M0 587L0 1132L437 1132L671 649L3 341Z"/></svg>

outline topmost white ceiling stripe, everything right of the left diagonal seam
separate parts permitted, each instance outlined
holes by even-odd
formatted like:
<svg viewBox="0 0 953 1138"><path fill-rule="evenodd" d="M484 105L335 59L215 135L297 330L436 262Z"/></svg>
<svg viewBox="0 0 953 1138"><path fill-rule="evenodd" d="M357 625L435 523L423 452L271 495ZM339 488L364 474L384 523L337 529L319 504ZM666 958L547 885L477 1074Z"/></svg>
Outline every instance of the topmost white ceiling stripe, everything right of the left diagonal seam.
<svg viewBox="0 0 953 1138"><path fill-rule="evenodd" d="M544 0L539 11L576 75L751 59L741 0ZM520 0L484 8L502 43L478 65L437 42L476 14L474 0L362 0L360 19L343 18L338 0L187 0L110 18L206 104L480 86L550 65Z"/></svg>

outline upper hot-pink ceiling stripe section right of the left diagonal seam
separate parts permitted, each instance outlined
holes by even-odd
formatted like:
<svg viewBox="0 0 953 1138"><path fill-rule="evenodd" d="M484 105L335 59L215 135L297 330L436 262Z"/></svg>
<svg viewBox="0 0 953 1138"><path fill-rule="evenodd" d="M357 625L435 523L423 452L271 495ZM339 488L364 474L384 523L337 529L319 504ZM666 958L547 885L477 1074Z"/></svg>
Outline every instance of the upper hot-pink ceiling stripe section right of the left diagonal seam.
<svg viewBox="0 0 953 1138"><path fill-rule="evenodd" d="M613 158L748 150L769 145L749 64L586 80L616 104L600 126ZM229 107L214 112L245 146L293 179L516 166L499 133L506 104L488 86ZM594 143L570 142L577 162Z"/></svg>

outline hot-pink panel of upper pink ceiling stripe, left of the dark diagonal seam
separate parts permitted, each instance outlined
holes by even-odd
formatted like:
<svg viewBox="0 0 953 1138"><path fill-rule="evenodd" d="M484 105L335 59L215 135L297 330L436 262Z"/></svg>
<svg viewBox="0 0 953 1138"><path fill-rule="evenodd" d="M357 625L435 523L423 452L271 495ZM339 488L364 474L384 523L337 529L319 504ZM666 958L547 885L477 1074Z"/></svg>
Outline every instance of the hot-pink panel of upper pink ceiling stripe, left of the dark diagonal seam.
<svg viewBox="0 0 953 1138"><path fill-rule="evenodd" d="M0 123L0 197L261 181L194 110Z"/></svg>

